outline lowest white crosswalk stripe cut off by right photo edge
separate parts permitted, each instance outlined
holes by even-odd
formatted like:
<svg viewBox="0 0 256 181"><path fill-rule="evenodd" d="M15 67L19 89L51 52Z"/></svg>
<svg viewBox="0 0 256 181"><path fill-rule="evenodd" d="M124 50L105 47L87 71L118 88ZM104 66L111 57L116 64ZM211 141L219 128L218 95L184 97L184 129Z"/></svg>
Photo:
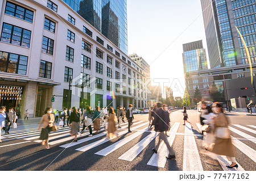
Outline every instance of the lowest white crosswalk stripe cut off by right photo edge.
<svg viewBox="0 0 256 181"><path fill-rule="evenodd" d="M237 138L231 136L233 138L233 145L236 146L240 151L242 151L243 154L247 155L250 159L252 159L254 162L256 162L256 151L250 146L247 146L243 142L237 140Z"/></svg>

